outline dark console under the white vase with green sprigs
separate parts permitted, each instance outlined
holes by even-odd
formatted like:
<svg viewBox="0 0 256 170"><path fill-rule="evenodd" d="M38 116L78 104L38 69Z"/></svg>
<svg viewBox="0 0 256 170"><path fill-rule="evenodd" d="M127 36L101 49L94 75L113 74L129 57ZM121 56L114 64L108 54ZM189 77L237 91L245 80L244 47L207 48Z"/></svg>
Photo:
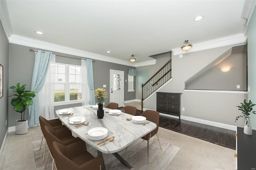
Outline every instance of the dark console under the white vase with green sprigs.
<svg viewBox="0 0 256 170"><path fill-rule="evenodd" d="M252 135L244 134L244 128L237 127L237 169L256 169L256 130L252 130Z"/></svg>

